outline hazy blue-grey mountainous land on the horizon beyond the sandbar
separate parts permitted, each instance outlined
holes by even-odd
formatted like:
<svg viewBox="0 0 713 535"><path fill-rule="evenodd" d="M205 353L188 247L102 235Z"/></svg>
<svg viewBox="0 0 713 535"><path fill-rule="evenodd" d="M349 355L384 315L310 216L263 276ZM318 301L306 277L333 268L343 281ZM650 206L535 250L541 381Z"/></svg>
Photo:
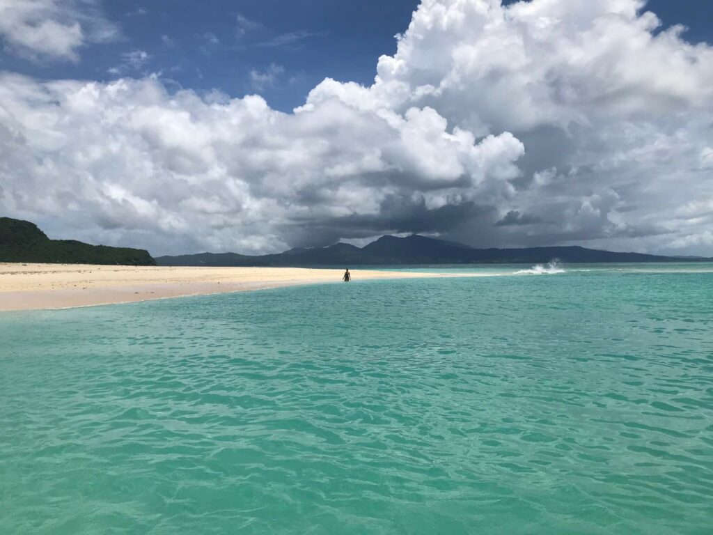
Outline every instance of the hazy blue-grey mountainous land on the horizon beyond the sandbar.
<svg viewBox="0 0 713 535"><path fill-rule="evenodd" d="M382 236L362 248L337 243L324 248L297 248L275 255L249 256L237 253L200 253L162 256L158 265L174 266L340 266L515 264L615 262L699 262L709 258L676 258L640 253L612 253L583 247L535 247L522 249L476 249L469 245L411 235Z"/></svg>

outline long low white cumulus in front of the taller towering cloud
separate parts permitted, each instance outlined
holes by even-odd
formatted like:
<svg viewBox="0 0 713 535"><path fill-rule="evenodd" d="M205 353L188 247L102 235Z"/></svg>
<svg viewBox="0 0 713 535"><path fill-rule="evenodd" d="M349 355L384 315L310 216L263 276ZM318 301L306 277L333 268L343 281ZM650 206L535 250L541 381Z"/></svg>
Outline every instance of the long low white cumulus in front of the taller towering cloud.
<svg viewBox="0 0 713 535"><path fill-rule="evenodd" d="M488 180L515 175L523 152L508 134L449 133L431 108L364 113L330 101L287 114L258 96L171 95L155 78L4 74L0 97L7 212L57 215L95 241L158 253L373 235L389 225L389 203L426 216L430 195L467 204Z"/></svg>

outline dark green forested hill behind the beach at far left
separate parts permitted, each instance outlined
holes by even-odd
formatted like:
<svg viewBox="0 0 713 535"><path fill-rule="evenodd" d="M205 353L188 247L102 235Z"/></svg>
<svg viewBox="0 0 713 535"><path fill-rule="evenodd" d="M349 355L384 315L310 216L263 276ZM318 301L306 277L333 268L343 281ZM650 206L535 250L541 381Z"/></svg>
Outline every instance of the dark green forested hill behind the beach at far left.
<svg viewBox="0 0 713 535"><path fill-rule="evenodd" d="M156 265L143 249L50 240L34 223L12 218L0 218L0 262Z"/></svg>

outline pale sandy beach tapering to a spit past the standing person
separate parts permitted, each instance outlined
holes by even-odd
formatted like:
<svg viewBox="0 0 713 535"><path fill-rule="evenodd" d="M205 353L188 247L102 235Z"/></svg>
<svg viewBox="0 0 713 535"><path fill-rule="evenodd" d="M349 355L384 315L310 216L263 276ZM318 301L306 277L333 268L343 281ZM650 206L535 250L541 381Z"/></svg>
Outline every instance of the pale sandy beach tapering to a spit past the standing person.
<svg viewBox="0 0 713 535"><path fill-rule="evenodd" d="M298 267L133 267L0 263L0 310L108 305L186 295L341 282L342 270ZM352 271L353 280L439 277Z"/></svg>

